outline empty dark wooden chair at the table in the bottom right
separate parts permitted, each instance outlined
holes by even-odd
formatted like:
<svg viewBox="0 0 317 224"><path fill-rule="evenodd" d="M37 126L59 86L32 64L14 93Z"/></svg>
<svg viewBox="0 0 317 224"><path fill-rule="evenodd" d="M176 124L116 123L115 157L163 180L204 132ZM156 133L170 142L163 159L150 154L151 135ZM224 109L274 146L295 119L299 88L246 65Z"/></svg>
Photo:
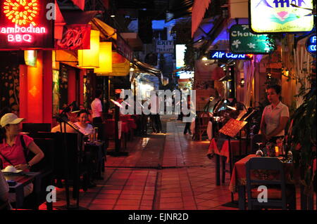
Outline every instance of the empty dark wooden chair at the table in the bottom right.
<svg viewBox="0 0 317 224"><path fill-rule="evenodd" d="M286 185L283 164L278 158L254 157L247 164L247 197L248 209L252 210L255 206L260 208L280 208L283 210L296 209L296 190L294 185ZM261 171L259 171L261 170ZM251 172L263 172L259 178L251 176ZM268 175L268 172L274 175ZM273 177L274 176L274 177ZM268 201L259 202L257 198L259 185L264 185L268 190Z"/></svg>

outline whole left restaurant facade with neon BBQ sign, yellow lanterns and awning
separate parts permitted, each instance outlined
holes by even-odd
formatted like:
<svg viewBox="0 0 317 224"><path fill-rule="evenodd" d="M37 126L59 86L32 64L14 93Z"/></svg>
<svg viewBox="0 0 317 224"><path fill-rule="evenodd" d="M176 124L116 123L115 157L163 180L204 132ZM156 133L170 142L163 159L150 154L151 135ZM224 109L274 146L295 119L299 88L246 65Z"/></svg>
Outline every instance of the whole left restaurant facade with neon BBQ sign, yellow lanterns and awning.
<svg viewBox="0 0 317 224"><path fill-rule="evenodd" d="M73 2L80 11L61 10L54 0L1 3L1 110L54 126L67 105L88 108L97 88L109 98L109 77L129 74L130 46L97 18L99 11Z"/></svg>

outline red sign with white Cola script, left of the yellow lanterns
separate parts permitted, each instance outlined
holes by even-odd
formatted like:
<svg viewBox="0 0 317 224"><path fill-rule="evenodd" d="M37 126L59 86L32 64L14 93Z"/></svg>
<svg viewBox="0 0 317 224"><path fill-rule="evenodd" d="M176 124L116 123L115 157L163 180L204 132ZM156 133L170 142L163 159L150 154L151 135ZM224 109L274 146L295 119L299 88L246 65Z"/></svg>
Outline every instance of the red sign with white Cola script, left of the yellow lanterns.
<svg viewBox="0 0 317 224"><path fill-rule="evenodd" d="M64 28L63 38L56 41L58 50L90 49L91 25L68 25Z"/></svg>

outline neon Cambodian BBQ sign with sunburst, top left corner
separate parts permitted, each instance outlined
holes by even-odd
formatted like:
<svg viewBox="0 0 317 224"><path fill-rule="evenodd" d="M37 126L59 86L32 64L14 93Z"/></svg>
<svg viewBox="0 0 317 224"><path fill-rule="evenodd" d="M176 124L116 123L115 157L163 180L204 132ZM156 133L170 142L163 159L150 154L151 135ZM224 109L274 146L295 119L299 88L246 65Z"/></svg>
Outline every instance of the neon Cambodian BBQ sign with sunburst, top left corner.
<svg viewBox="0 0 317 224"><path fill-rule="evenodd" d="M54 0L0 2L0 48L54 48Z"/></svg>

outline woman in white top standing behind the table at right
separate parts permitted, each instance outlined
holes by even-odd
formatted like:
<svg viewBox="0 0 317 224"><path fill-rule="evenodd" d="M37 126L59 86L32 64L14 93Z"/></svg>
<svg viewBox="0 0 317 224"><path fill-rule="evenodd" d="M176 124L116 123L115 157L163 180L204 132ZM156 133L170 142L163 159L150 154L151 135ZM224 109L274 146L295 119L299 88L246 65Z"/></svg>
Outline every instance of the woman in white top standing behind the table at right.
<svg viewBox="0 0 317 224"><path fill-rule="evenodd" d="M285 126L290 117L287 105L280 102L281 87L278 85L266 88L268 101L271 103L263 110L261 119L261 134L271 143L278 138L284 138Z"/></svg>

